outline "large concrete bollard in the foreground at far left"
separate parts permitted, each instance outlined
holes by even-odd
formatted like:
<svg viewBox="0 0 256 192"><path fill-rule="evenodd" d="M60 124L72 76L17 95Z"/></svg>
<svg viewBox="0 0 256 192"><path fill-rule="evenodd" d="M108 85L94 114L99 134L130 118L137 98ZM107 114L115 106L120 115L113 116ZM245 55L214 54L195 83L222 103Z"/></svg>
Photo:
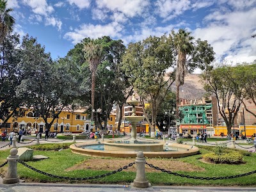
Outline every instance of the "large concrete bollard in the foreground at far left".
<svg viewBox="0 0 256 192"><path fill-rule="evenodd" d="M10 150L10 156L7 157L8 170L3 179L3 184L13 184L19 182L19 177L17 174L17 160L19 160L19 156L17 156L17 153L17 148L12 148Z"/></svg>

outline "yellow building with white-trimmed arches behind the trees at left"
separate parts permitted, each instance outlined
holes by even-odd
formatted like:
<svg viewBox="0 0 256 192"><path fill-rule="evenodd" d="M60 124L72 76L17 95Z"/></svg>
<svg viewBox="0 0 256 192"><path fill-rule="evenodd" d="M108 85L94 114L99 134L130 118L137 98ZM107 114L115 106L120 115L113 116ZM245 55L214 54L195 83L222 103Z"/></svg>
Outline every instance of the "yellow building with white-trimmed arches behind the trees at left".
<svg viewBox="0 0 256 192"><path fill-rule="evenodd" d="M59 118L56 118L51 126L51 132L83 132L83 131L97 131L87 117L87 114L83 113L83 109L74 111L61 111ZM52 118L47 118L48 122L52 121ZM108 120L108 127L115 125L115 115L111 114ZM1 131L12 130L19 131L19 129L37 129L38 132L45 131L45 122L42 117L35 117L32 110L25 111L23 116L17 118L10 118L6 124L2 124Z"/></svg>

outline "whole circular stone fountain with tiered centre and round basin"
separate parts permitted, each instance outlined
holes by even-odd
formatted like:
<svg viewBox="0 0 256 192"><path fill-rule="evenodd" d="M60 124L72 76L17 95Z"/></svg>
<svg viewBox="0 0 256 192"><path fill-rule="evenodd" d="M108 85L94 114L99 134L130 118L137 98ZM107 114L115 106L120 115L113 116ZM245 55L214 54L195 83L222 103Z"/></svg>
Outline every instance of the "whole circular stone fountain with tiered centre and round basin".
<svg viewBox="0 0 256 192"><path fill-rule="evenodd" d="M125 116L131 122L131 138L120 141L102 141L101 143L86 142L70 145L72 152L83 154L86 156L98 157L136 157L138 151L143 151L146 157L154 158L171 158L171 157L186 157L198 153L198 148L191 145L181 145L172 143L165 145L163 140L143 140L138 141L136 124L144 118L144 116L136 115L136 106L140 103L132 95L132 99L127 101L132 106L132 115ZM165 151L164 151L165 148Z"/></svg>

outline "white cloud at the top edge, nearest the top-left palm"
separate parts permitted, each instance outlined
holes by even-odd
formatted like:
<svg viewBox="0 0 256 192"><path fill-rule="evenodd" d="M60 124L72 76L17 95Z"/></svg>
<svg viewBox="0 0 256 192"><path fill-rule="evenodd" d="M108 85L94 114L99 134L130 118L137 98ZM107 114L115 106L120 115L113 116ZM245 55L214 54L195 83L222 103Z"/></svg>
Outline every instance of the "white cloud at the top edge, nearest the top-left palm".
<svg viewBox="0 0 256 192"><path fill-rule="evenodd" d="M32 8L32 12L38 15L47 16L54 12L54 8L48 5L45 0L22 0L24 4Z"/></svg>

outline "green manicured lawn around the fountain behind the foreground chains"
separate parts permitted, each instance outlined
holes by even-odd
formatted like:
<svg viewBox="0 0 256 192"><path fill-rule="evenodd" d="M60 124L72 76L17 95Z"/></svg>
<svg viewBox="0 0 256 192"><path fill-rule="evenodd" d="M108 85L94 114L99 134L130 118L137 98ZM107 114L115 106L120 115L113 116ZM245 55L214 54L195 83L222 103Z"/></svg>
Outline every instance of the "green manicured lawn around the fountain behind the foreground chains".
<svg viewBox="0 0 256 192"><path fill-rule="evenodd" d="M49 144L47 144L49 145ZM54 144L52 144L54 145ZM199 146L200 147L200 146ZM202 154L212 151L213 147L200 147L201 154L189 157L182 157L175 159L174 161L182 161L185 163L191 164L191 167L198 166L204 168L204 171L177 171L177 173L196 176L196 177L225 177L231 175L238 175L241 173L252 172L256 170L256 153L244 152L244 164L209 164L203 163L200 161ZM235 149L237 150L237 149ZM240 151L240 150L237 150ZM6 161L10 150L3 150L0 153L0 164ZM60 150L60 151L40 151L34 150L34 155L43 155L49 157L42 161L28 162L30 166L42 170L47 173L52 173L54 175L61 175L65 177L91 177L93 175L100 175L102 173L108 173L109 171L100 171L100 170L73 170L67 171L67 168L70 168L76 164L80 164L86 159L92 159L97 157L86 157L79 154L73 154L70 149ZM97 158L100 159L100 158ZM113 164L115 164L115 159L112 159ZM135 159L129 159L131 163ZM147 160L146 160L147 161ZM148 166L146 166L146 175L148 181L153 185L205 185L205 186L256 186L256 173L244 177L239 177L236 179L224 179L224 180L200 180L200 179L188 179L186 177L179 177L175 175L169 175L168 173L158 172L147 172ZM116 170L120 168L116 164ZM164 164L160 167L164 168ZM3 173L7 170L7 165L3 168L0 168L0 173ZM129 184L132 180L135 179L136 173L129 172L118 172L107 177L86 180L86 181L70 181L63 179L54 179L40 173L36 173L29 168L26 168L24 165L18 163L18 174L20 179L25 179L28 182L90 182L98 184ZM170 170L172 171L172 170Z"/></svg>

